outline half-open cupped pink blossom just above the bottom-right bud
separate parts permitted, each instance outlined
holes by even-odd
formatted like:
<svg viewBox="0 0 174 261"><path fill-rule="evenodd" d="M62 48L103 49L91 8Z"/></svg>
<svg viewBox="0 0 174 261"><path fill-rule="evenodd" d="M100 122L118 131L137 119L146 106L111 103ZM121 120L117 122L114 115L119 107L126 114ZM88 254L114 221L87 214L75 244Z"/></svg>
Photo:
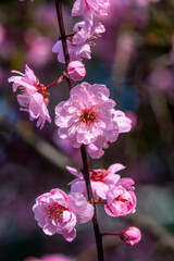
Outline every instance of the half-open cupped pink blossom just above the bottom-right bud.
<svg viewBox="0 0 174 261"><path fill-rule="evenodd" d="M136 208L136 196L122 185L115 184L107 192L107 214L111 216L127 215L134 213Z"/></svg>

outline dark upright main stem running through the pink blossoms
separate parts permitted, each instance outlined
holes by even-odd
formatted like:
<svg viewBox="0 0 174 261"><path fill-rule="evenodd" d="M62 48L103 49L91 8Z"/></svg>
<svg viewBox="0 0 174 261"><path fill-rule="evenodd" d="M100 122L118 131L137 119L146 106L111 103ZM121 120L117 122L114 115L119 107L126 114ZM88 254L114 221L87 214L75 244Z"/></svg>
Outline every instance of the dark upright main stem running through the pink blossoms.
<svg viewBox="0 0 174 261"><path fill-rule="evenodd" d="M62 15L62 1L54 0L54 3L55 3L58 23L59 23L60 33L61 33L61 40L62 40L63 52L64 52L64 58L65 58L65 65L67 69L67 65L70 63L70 57L69 57L69 50L67 50L67 45L66 45L66 35L65 35L63 15ZM73 88L73 82L70 78L67 78L66 80L67 80L70 89ZM84 178L85 178L85 183L86 183L88 200L94 202L92 190L91 190L91 185L90 185L90 177L89 177L89 167L88 167L88 161L87 161L87 152L86 152L85 145L83 145L80 147L80 152L82 152L82 159L83 159L83 166L84 166L83 173L84 173ZM95 231L95 236L96 236L98 261L103 261L102 236L99 231L99 224L98 224L95 204L94 204L94 208L95 208L95 214L92 217L92 224L94 224L94 231Z"/></svg>

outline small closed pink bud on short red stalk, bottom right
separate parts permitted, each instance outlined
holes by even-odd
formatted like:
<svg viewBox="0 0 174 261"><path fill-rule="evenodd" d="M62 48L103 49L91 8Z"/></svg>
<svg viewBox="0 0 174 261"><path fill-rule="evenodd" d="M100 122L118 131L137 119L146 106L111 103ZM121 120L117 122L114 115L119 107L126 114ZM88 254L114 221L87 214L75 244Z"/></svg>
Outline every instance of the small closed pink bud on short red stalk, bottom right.
<svg viewBox="0 0 174 261"><path fill-rule="evenodd" d="M141 239L140 231L135 226L129 226L125 231L120 233L120 237L124 240L128 246L137 245Z"/></svg>

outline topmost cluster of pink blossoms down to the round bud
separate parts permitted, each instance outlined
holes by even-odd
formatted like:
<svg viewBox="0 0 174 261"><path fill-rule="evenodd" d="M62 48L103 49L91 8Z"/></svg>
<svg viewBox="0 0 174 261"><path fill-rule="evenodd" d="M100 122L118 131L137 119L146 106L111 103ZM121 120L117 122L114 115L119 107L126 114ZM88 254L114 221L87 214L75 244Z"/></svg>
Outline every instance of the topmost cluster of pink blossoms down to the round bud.
<svg viewBox="0 0 174 261"><path fill-rule="evenodd" d="M108 14L109 0L76 0L73 9L73 16L83 16L84 21L77 22L74 25L73 34L66 36L66 44L69 49L70 61L82 63L84 58L91 59L91 50L90 47L96 44L94 40L97 37L100 37L100 34L104 33L104 26L97 22L94 18L94 14L99 16ZM64 53L62 48L62 41L59 40L52 48L52 51L58 53L58 61L61 63L65 63ZM84 64L82 63L80 66ZM78 66L78 65L77 65ZM67 69L69 73L69 69ZM75 74L75 77L74 77ZM70 77L79 82L85 77L85 73L79 73L79 77L76 78L77 72L71 72Z"/></svg>

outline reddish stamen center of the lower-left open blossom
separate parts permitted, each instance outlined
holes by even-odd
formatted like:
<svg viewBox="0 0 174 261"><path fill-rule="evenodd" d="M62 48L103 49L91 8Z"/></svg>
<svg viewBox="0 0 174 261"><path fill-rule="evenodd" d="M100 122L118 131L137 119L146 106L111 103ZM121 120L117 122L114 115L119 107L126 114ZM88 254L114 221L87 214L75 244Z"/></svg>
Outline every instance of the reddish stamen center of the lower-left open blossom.
<svg viewBox="0 0 174 261"><path fill-rule="evenodd" d="M63 212L66 210L65 207L59 204L59 203L53 203L48 206L48 211L47 214L49 216L50 220L54 220L58 221L59 219L62 217Z"/></svg>

